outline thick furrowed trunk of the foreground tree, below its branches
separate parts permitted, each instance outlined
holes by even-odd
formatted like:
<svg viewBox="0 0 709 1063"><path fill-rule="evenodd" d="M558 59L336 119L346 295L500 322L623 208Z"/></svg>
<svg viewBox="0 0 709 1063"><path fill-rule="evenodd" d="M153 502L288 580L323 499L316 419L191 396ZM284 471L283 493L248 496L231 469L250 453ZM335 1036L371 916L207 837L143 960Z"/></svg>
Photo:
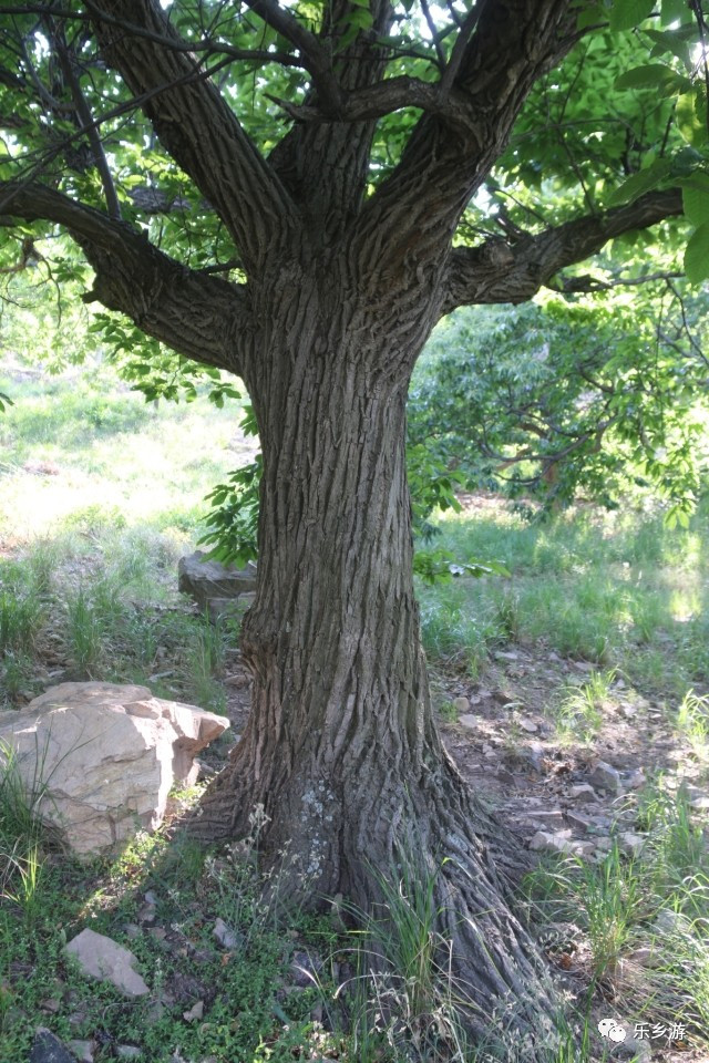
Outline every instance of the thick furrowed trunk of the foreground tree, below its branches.
<svg viewBox="0 0 709 1063"><path fill-rule="evenodd" d="M251 715L196 828L242 837L263 805L265 856L287 892L367 910L405 854L422 880L435 876L436 930L472 1026L496 1015L524 1031L518 1057L535 1059L549 1041L543 963L504 899L501 828L442 746L419 640L397 350L418 348L428 322L407 341L307 286L284 303L247 381L264 446L258 591L242 632Z"/></svg>

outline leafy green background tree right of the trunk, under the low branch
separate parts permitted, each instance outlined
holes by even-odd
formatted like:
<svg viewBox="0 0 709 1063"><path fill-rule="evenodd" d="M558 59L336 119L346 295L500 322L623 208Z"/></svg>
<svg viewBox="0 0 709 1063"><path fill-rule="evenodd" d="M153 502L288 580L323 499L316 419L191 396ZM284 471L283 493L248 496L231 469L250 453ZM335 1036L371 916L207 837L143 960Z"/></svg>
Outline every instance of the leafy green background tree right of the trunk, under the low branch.
<svg viewBox="0 0 709 1063"><path fill-rule="evenodd" d="M459 310L414 373L410 443L469 487L610 508L645 487L686 523L707 462L706 296L656 287Z"/></svg>

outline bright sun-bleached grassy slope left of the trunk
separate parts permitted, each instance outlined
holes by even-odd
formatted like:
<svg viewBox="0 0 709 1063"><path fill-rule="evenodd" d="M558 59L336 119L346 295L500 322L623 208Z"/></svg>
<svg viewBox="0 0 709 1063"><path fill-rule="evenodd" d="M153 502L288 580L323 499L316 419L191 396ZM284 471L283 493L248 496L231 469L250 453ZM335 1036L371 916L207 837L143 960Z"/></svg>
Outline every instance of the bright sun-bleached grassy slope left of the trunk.
<svg viewBox="0 0 709 1063"><path fill-rule="evenodd" d="M89 508L194 529L206 492L257 446L238 430L239 405L217 410L203 396L153 406L106 371L22 391L0 421L0 539L13 543Z"/></svg>

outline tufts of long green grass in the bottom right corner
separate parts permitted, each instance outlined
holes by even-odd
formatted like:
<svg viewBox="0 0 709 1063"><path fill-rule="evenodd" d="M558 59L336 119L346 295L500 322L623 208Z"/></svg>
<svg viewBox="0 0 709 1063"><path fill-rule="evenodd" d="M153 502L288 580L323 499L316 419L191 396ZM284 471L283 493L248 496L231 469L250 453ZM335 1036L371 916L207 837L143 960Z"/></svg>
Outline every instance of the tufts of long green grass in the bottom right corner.
<svg viewBox="0 0 709 1063"><path fill-rule="evenodd" d="M614 843L598 864L540 867L525 888L542 920L568 928L552 951L571 951L589 994L600 988L629 1022L681 1022L698 1046L709 1042L709 853L682 789L658 778L634 799L648 832L638 857Z"/></svg>

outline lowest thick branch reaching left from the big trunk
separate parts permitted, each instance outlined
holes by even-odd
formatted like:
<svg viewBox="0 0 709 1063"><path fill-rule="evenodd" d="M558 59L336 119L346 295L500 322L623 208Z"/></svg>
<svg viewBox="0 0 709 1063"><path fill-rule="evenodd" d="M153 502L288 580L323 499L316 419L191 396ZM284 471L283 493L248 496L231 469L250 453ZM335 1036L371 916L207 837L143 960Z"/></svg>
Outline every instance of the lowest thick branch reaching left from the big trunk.
<svg viewBox="0 0 709 1063"><path fill-rule="evenodd" d="M251 329L244 286L187 269L131 225L60 192L0 182L0 224L19 218L55 223L80 245L96 275L85 301L125 313L179 354L243 373Z"/></svg>

